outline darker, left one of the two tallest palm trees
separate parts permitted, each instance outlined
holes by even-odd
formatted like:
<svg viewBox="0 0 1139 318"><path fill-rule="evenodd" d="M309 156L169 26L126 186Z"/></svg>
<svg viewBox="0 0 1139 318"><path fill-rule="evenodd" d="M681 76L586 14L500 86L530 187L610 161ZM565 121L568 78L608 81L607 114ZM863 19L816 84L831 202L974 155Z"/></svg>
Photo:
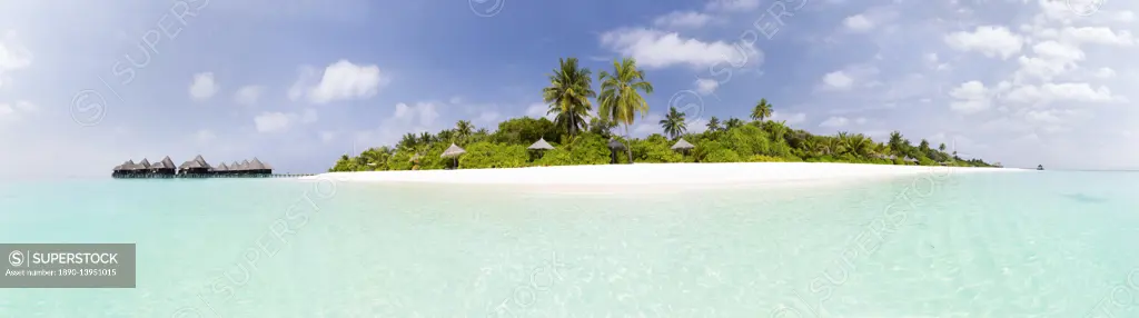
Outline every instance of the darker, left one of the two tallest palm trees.
<svg viewBox="0 0 1139 318"><path fill-rule="evenodd" d="M542 100L550 105L547 114L555 114L554 123L570 136L585 127L585 117L593 105L591 72L577 66L577 58L558 59L558 68L550 74L550 85L542 89Z"/></svg>

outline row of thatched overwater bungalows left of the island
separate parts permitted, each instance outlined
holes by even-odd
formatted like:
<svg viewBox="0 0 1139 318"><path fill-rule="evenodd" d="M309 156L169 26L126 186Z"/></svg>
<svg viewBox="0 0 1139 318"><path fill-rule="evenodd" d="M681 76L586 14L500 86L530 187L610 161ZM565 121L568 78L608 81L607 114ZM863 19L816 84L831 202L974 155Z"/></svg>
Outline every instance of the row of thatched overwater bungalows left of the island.
<svg viewBox="0 0 1139 318"><path fill-rule="evenodd" d="M264 177L273 173L273 168L257 158L252 161L233 162L232 164L221 163L216 166L206 162L202 155L194 157L180 165L174 165L170 156L156 163L150 163L146 158L141 162L126 161L115 166L110 177L114 178L211 178L211 177Z"/></svg>

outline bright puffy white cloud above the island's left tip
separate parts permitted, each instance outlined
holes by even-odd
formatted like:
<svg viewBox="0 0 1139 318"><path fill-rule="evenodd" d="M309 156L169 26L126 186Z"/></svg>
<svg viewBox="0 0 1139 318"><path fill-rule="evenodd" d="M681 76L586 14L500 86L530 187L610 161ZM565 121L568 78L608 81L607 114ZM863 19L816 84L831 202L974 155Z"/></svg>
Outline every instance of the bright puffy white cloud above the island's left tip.
<svg viewBox="0 0 1139 318"><path fill-rule="evenodd" d="M310 85L316 75L314 70L302 67L301 78L288 91L289 99L306 97L313 104L366 99L376 96L380 88L391 82L391 79L380 73L379 66L355 65L346 59L325 67L320 80Z"/></svg>

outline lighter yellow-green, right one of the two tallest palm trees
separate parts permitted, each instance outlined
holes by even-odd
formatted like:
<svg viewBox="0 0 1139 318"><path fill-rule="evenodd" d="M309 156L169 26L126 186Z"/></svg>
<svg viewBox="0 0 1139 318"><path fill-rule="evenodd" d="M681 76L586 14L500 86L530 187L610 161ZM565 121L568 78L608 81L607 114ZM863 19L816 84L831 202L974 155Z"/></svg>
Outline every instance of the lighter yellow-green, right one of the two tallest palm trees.
<svg viewBox="0 0 1139 318"><path fill-rule="evenodd" d="M633 124L637 114L644 119L648 113L648 103L640 96L640 91L653 93L653 84L645 81L645 71L637 68L637 60L624 58L621 62L613 62L613 74L601 71L598 75L601 81L601 95L597 100L599 104L598 116L622 123L625 127L625 140L629 140L629 125ZM633 162L633 150L630 145L625 145L629 153L629 162Z"/></svg>

